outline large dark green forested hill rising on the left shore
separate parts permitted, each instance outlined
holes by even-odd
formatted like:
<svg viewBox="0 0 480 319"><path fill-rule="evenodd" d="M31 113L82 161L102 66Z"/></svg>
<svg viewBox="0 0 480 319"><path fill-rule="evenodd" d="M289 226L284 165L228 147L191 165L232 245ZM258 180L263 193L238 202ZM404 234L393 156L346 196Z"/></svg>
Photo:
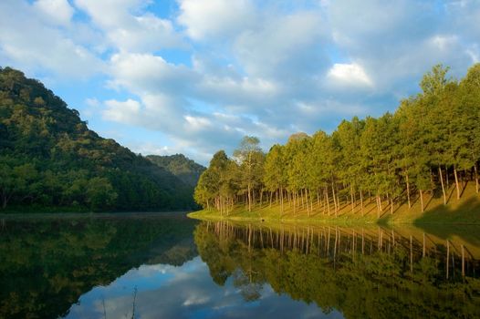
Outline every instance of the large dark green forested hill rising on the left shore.
<svg viewBox="0 0 480 319"><path fill-rule="evenodd" d="M0 211L193 205L190 185L115 140L100 138L39 81L0 68Z"/></svg>

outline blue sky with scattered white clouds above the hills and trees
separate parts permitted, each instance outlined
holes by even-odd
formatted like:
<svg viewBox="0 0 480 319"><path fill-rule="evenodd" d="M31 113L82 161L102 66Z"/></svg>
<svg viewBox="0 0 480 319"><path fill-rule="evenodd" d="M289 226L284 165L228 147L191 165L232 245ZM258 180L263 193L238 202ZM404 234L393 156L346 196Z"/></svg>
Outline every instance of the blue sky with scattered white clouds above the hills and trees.
<svg viewBox="0 0 480 319"><path fill-rule="evenodd" d="M478 0L2 0L0 66L103 137L205 164L394 110L435 64L463 77L478 21Z"/></svg>

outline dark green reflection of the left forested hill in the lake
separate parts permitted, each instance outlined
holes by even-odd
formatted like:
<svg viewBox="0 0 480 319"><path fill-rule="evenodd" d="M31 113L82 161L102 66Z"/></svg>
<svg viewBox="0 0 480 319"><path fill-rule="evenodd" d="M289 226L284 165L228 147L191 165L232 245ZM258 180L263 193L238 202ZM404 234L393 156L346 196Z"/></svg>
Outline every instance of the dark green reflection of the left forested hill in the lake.
<svg viewBox="0 0 480 319"><path fill-rule="evenodd" d="M82 293L152 256L182 264L193 252L178 247L188 246L194 224L180 216L5 220L0 226L0 317L63 315Z"/></svg>

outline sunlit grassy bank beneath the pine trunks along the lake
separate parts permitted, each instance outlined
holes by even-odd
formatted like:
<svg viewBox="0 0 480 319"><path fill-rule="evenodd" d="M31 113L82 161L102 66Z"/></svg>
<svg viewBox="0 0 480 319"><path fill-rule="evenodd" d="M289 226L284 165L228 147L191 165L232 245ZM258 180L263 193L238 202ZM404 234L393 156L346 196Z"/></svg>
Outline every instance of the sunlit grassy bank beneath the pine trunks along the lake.
<svg viewBox="0 0 480 319"><path fill-rule="evenodd" d="M451 187L447 190L447 203L443 204L443 196L438 193L425 193L423 195L424 211L420 199L412 197L412 207L409 209L406 202L394 204L393 209L383 202L382 211L378 212L374 199L364 201L363 209L360 201L354 205L343 201L340 210L335 216L333 203L330 203L330 213L325 203L315 203L313 211L308 213L304 207L295 212L292 205L284 204L281 213L280 206L274 201L271 205L264 202L256 204L252 211L247 211L245 206L239 205L228 213L221 214L216 210L195 211L189 214L191 218L200 220L229 220L229 221L265 221L265 222L298 222L298 223L331 223L331 224L477 224L480 225L480 194L475 191L475 184L468 183L464 186L460 200L456 199L456 190ZM380 215L380 218L379 218Z"/></svg>

